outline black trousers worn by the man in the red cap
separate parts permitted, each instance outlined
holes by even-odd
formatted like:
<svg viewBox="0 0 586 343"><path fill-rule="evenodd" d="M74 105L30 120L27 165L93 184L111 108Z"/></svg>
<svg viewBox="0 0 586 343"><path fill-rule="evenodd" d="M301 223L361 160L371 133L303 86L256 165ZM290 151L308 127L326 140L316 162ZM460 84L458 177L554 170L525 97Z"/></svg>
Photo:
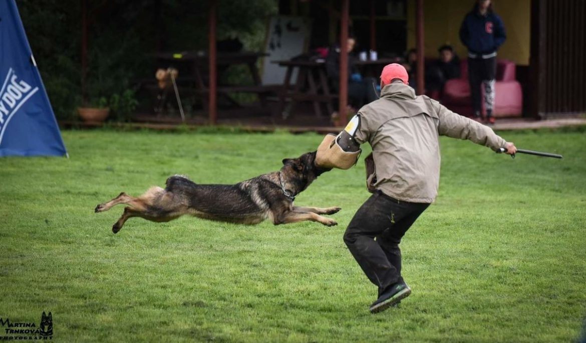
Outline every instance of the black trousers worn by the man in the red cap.
<svg viewBox="0 0 586 343"><path fill-rule="evenodd" d="M401 238L428 203L398 201L376 192L360 206L344 233L344 242L369 280L385 288L401 277Z"/></svg>

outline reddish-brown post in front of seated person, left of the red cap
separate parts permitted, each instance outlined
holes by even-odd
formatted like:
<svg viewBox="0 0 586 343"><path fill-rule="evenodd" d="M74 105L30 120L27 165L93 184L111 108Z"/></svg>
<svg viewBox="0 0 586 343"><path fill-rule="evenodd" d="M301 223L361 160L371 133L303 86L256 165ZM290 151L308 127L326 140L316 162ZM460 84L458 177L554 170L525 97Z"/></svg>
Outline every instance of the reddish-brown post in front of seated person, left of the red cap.
<svg viewBox="0 0 586 343"><path fill-rule="evenodd" d="M346 113L348 103L348 12L349 0L342 0L340 12L340 93L338 94L338 113L342 125L346 125L348 122Z"/></svg>

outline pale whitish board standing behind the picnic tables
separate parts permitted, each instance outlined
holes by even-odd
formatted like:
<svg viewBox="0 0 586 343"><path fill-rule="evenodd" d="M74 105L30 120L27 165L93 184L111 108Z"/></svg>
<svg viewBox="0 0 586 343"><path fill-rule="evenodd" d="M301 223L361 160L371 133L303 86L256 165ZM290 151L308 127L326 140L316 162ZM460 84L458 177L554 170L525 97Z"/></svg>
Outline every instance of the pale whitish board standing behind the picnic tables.
<svg viewBox="0 0 586 343"><path fill-rule="evenodd" d="M286 67L273 61L289 60L304 53L311 32L311 19L301 16L274 16L268 24L267 43L264 57L263 84L282 84ZM291 83L297 80L297 70L291 76Z"/></svg>

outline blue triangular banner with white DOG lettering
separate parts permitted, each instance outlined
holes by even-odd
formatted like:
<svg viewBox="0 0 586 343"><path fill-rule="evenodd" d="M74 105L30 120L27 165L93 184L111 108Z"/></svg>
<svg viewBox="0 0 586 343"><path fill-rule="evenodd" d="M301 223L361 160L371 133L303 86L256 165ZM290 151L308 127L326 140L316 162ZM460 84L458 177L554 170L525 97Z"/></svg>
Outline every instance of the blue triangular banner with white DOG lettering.
<svg viewBox="0 0 586 343"><path fill-rule="evenodd" d="M66 154L15 0L0 0L0 157Z"/></svg>

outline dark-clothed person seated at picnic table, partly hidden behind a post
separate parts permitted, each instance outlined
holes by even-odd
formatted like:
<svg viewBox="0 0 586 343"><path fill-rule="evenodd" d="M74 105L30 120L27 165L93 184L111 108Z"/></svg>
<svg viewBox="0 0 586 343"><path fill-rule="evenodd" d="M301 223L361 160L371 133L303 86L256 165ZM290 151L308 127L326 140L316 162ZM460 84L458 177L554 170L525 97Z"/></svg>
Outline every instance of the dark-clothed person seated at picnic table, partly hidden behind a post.
<svg viewBox="0 0 586 343"><path fill-rule="evenodd" d="M348 103L354 108L359 108L378 98L373 86L373 84L377 84L377 81L372 77L362 77L360 74L360 70L356 66L356 56L350 54L355 45L356 40L352 37L348 38L346 46L348 52ZM340 46L338 44L329 49L326 57L326 72L333 91L338 91L340 87Z"/></svg>

